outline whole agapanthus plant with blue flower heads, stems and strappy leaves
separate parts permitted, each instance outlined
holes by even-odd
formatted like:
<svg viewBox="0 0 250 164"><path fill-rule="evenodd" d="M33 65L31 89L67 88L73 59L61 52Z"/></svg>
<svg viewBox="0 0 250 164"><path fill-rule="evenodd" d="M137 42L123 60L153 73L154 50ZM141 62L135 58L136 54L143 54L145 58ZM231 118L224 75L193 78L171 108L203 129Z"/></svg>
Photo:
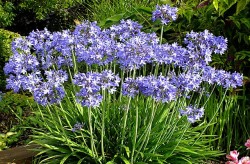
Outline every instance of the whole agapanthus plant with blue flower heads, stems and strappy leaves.
<svg viewBox="0 0 250 164"><path fill-rule="evenodd" d="M176 12L157 6L153 18L168 24ZM84 21L73 32L33 31L13 42L14 55L4 68L7 88L29 91L44 106L38 116L45 131L38 130L34 142L43 145L49 138L63 147L58 150L64 153L43 162L165 162L178 153L198 162L218 155L203 145L206 140L197 146L201 137L188 130L202 120L205 104L187 97L204 84L242 85L241 74L208 65L212 54L225 52L227 40L205 30L187 34L186 46L162 44L162 35L141 29L132 20L108 29ZM203 154L185 152L181 143Z"/></svg>

